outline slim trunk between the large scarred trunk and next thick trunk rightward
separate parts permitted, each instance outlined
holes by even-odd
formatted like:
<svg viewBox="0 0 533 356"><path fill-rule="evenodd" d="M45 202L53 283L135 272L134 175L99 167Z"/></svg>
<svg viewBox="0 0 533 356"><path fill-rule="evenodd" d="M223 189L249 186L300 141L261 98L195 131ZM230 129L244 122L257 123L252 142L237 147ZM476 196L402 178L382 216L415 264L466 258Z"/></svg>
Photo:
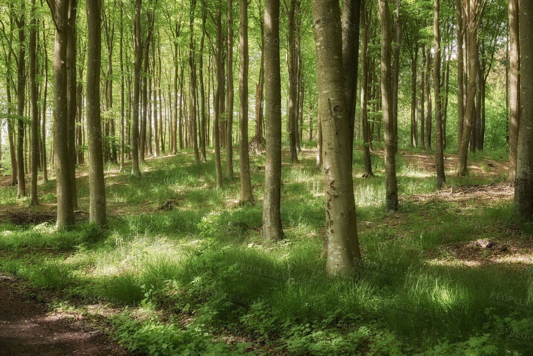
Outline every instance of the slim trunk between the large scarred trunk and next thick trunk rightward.
<svg viewBox="0 0 533 356"><path fill-rule="evenodd" d="M368 126L368 25L365 14L365 0L361 1L360 9L360 25L361 25L361 70L362 70L362 82L361 82L361 125L363 131L363 155L365 160L365 171L362 175L363 178L374 176L372 172L372 161L370 160L370 136ZM344 74L346 76L346 74ZM353 137L352 137L353 139ZM353 154L353 149L352 149Z"/></svg>

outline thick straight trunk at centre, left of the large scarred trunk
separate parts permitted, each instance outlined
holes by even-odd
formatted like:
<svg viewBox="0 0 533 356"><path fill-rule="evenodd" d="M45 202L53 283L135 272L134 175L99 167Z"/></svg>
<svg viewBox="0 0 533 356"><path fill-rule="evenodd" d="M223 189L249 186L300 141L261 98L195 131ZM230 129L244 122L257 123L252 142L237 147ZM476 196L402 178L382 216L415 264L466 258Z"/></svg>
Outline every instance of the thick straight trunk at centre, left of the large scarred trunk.
<svg viewBox="0 0 533 356"><path fill-rule="evenodd" d="M281 75L279 0L265 0L265 184L263 239L283 238L281 228Z"/></svg>

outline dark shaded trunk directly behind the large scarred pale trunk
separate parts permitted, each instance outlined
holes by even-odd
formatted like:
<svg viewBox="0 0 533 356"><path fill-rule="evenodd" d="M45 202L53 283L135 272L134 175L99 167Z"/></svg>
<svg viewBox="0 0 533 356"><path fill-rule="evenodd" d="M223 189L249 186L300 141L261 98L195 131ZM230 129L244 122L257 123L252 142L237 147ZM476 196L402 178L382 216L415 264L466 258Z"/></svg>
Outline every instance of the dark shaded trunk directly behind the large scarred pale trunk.
<svg viewBox="0 0 533 356"><path fill-rule="evenodd" d="M353 132L356 121L357 75L359 62L359 22L361 0L342 3L342 58L344 88L346 90L346 115L350 138L350 161L353 162Z"/></svg>

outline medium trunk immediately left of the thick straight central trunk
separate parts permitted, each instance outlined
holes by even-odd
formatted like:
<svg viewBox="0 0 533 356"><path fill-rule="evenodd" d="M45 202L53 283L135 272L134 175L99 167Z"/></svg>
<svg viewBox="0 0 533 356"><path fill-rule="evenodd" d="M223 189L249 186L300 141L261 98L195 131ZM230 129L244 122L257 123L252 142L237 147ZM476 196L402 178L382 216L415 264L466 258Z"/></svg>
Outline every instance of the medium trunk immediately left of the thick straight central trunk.
<svg viewBox="0 0 533 356"><path fill-rule="evenodd" d="M239 168L240 204L254 203L248 157L248 2L239 0Z"/></svg>

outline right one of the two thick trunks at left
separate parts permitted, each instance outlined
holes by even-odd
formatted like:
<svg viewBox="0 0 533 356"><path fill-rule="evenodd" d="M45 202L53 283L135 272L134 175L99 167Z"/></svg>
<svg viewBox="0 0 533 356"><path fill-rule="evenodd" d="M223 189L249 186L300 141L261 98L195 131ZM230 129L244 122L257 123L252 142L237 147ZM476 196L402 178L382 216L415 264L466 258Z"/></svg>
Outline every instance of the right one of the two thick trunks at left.
<svg viewBox="0 0 533 356"><path fill-rule="evenodd" d="M89 169L89 221L107 224L100 118L100 64L102 58L101 1L85 2L87 13L87 149ZM122 11L122 8L121 8ZM122 18L122 17L121 17ZM122 30L122 26L121 26ZM122 31L121 31L122 34ZM122 48L122 46L121 46ZM121 157L121 160L123 157Z"/></svg>

